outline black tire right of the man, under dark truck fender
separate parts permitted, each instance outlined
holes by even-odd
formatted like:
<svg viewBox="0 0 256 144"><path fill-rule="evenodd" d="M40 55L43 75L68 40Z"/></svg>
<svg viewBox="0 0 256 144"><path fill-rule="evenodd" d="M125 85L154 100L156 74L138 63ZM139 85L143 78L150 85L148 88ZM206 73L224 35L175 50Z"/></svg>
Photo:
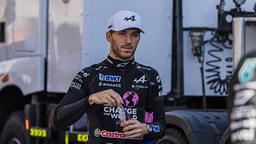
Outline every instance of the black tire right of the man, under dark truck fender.
<svg viewBox="0 0 256 144"><path fill-rule="evenodd" d="M166 130L165 135L157 140L156 144L188 144L188 141L182 131L169 128Z"/></svg>

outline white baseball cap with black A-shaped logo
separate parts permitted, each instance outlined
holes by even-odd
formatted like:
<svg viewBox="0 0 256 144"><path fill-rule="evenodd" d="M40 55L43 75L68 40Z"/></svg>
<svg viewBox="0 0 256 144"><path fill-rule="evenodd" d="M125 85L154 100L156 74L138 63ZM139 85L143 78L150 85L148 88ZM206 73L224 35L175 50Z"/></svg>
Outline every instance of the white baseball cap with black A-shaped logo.
<svg viewBox="0 0 256 144"><path fill-rule="evenodd" d="M128 28L137 28L141 32L144 32L141 17L138 14L129 10L121 10L109 18L107 25L108 31L121 31Z"/></svg>

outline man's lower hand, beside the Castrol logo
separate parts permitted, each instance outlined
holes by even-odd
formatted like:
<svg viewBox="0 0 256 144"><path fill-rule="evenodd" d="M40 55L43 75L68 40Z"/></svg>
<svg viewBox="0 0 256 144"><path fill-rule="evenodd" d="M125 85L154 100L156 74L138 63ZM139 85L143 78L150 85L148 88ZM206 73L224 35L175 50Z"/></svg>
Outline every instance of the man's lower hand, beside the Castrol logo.
<svg viewBox="0 0 256 144"><path fill-rule="evenodd" d="M121 126L123 126L125 135L131 139L142 139L144 135L149 133L147 124L141 123L138 120L124 121Z"/></svg>

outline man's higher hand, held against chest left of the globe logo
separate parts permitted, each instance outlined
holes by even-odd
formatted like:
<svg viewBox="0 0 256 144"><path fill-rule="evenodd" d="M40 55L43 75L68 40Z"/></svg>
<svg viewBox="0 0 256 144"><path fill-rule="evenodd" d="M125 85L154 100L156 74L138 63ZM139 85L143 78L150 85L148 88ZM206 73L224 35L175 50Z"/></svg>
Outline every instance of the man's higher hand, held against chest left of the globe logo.
<svg viewBox="0 0 256 144"><path fill-rule="evenodd" d="M100 91L89 96L89 104L110 104L120 107L123 104L122 97L112 89Z"/></svg>

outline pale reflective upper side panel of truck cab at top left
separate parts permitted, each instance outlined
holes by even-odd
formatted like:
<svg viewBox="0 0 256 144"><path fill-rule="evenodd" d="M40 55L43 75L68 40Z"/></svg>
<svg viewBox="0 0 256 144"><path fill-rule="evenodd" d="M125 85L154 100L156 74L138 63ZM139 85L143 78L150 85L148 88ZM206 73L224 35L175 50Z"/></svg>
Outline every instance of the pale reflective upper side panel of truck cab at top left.
<svg viewBox="0 0 256 144"><path fill-rule="evenodd" d="M39 49L39 0L8 0L6 29L8 57L41 55Z"/></svg>

